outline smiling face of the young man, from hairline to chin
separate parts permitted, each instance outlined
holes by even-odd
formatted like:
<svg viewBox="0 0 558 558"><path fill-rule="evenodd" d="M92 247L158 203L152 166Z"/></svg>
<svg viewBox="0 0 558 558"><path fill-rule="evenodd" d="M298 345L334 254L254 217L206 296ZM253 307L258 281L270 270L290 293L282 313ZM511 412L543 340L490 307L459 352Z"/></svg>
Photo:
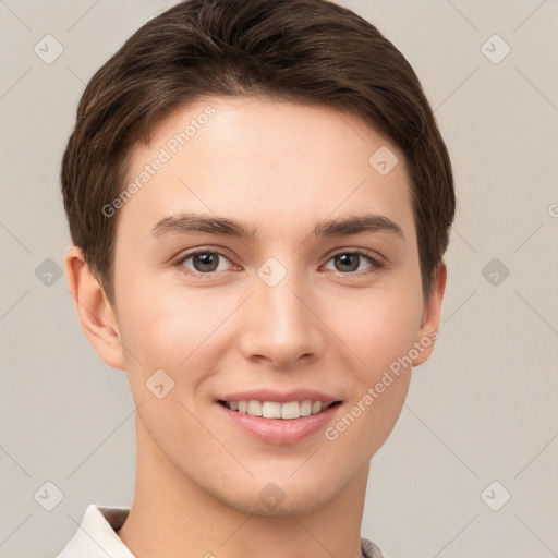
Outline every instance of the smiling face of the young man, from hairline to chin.
<svg viewBox="0 0 558 558"><path fill-rule="evenodd" d="M113 310L151 459L245 512L324 506L366 470L434 343L402 154L347 113L214 97L134 150L136 178Z"/></svg>

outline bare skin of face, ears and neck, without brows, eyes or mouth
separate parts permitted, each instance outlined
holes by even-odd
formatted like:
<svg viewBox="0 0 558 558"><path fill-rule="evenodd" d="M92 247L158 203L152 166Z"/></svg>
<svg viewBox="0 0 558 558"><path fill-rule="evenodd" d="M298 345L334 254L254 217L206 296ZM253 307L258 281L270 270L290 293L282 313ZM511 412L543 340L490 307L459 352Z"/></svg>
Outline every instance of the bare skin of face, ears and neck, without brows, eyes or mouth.
<svg viewBox="0 0 558 558"><path fill-rule="evenodd" d="M143 558L356 558L369 460L400 414L412 366L333 441L319 432L264 444L225 421L214 399L314 388L343 401L340 420L391 363L437 331L446 267L424 300L403 156L356 117L328 108L197 101L134 149L130 181L208 105L216 114L119 209L114 306L80 248L65 257L84 332L105 363L125 371L137 405L135 496L118 534ZM399 158L386 175L368 163L380 146ZM398 223L404 240L387 231L310 235L319 220L364 210ZM149 236L181 211L235 219L257 234ZM226 255L214 256L209 279L189 275L207 269L195 258L174 265L196 247ZM343 267L332 254L355 250L387 265L356 256ZM272 288L257 275L270 257L287 270ZM145 386L159 368L174 380L162 399ZM284 494L276 508L258 498L270 482Z"/></svg>

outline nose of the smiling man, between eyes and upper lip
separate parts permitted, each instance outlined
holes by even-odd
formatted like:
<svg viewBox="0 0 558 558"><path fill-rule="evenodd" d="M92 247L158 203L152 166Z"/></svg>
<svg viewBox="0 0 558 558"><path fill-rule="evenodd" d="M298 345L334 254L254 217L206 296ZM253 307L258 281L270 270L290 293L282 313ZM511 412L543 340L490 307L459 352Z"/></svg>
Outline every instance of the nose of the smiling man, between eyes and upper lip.
<svg viewBox="0 0 558 558"><path fill-rule="evenodd" d="M256 276L254 290L243 316L244 357L284 369L319 359L327 327L310 282L293 271L275 286Z"/></svg>

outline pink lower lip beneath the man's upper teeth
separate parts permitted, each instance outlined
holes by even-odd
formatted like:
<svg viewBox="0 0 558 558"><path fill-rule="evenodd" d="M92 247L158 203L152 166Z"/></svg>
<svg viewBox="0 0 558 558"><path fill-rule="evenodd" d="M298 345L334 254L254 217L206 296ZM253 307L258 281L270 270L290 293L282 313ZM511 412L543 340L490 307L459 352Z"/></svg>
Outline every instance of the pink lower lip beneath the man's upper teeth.
<svg viewBox="0 0 558 558"><path fill-rule="evenodd" d="M234 426L242 428L260 441L278 446L296 444L324 429L341 407L338 403L320 413L300 418L264 418L231 411L221 403L216 404Z"/></svg>

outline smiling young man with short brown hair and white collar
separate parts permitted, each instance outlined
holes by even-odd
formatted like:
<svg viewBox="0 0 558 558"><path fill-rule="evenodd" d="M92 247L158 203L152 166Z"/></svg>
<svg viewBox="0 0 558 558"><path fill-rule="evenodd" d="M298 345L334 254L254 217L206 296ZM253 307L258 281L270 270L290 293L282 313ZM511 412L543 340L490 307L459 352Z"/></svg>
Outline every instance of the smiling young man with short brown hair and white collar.
<svg viewBox="0 0 558 558"><path fill-rule="evenodd" d="M402 54L325 0L187 0L92 78L61 181L137 473L59 558L383 556L369 461L434 348L456 205Z"/></svg>

